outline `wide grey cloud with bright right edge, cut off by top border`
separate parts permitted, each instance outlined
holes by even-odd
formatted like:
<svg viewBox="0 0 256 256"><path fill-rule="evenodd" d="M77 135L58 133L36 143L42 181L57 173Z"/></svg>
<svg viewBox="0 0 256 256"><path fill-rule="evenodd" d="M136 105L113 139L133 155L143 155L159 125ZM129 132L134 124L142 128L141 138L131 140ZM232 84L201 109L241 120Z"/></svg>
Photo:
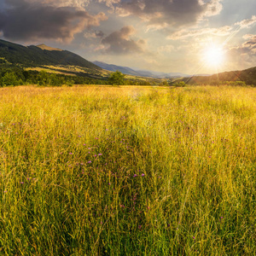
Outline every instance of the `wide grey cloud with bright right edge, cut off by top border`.
<svg viewBox="0 0 256 256"><path fill-rule="evenodd" d="M120 16L135 15L149 28L193 24L203 17L218 15L222 0L100 0L112 5Z"/></svg>

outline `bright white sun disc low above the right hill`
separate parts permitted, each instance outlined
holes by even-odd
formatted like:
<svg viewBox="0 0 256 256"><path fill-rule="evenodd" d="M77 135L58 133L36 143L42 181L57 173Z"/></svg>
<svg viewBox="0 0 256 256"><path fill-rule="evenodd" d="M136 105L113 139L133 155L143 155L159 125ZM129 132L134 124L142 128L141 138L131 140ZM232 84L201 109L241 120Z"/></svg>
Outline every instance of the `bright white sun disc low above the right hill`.
<svg viewBox="0 0 256 256"><path fill-rule="evenodd" d="M222 46L211 45L204 51L204 61L208 67L220 67L224 63L224 49Z"/></svg>

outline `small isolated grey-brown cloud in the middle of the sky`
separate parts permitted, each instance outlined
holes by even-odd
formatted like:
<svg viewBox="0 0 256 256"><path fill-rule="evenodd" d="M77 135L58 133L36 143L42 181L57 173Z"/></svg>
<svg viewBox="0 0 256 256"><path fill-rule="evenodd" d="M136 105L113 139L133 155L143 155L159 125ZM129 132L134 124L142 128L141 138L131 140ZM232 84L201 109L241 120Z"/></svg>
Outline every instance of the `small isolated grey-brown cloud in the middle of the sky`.
<svg viewBox="0 0 256 256"><path fill-rule="evenodd" d="M108 37L102 39L103 52L115 55L143 53L146 41L131 39L135 32L133 26L124 26L119 31L111 33Z"/></svg>

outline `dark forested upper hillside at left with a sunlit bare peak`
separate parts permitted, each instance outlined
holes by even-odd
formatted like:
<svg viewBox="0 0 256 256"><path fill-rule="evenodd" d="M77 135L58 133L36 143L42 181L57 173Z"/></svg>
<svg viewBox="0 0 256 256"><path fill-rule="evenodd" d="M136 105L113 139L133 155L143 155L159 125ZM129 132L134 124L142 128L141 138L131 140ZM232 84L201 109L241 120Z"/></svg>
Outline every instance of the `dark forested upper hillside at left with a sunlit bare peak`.
<svg viewBox="0 0 256 256"><path fill-rule="evenodd" d="M0 40L0 58L12 64L22 64L27 67L38 65L72 65L90 69L102 69L90 61L68 50L52 49L46 45L22 46Z"/></svg>

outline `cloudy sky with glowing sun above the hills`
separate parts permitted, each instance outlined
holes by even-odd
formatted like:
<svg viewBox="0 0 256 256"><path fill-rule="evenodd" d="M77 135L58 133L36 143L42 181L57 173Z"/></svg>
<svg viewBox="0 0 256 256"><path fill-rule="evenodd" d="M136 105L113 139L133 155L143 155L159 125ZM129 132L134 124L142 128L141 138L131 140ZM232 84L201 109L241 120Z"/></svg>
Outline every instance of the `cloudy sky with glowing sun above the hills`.
<svg viewBox="0 0 256 256"><path fill-rule="evenodd" d="M241 70L256 66L256 1L0 0L0 38L142 70Z"/></svg>

